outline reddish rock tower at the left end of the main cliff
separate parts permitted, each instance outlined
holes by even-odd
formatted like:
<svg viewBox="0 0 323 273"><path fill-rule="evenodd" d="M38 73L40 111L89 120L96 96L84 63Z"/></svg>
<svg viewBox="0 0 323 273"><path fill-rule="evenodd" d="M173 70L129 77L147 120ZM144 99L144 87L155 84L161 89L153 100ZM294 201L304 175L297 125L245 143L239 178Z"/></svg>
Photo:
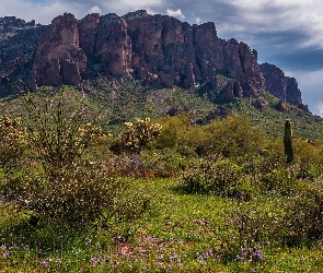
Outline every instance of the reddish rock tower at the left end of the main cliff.
<svg viewBox="0 0 323 273"><path fill-rule="evenodd" d="M70 13L54 19L39 40L34 60L36 76L33 76L37 79L37 85L78 85L85 67L86 56L79 47L77 19Z"/></svg>

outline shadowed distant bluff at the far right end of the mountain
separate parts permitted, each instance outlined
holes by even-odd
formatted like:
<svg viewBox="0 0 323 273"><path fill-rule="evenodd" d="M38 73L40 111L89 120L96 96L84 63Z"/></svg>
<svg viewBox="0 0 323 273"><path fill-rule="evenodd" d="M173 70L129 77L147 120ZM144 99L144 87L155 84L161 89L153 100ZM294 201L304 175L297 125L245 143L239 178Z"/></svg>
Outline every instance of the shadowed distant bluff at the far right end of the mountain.
<svg viewBox="0 0 323 273"><path fill-rule="evenodd" d="M267 62L259 66L266 82L266 91L282 102L299 106L302 105L301 92L295 78L286 76L274 64Z"/></svg>

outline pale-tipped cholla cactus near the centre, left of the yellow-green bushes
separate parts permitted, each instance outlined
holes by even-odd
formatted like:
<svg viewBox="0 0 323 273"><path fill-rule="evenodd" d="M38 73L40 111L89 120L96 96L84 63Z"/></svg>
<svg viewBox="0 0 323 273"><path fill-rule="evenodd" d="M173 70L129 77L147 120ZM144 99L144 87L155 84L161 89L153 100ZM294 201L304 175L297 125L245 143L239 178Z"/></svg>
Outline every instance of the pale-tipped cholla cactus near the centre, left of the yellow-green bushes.
<svg viewBox="0 0 323 273"><path fill-rule="evenodd" d="M136 119L124 123L126 129L120 134L120 143L127 151L138 152L145 149L148 143L157 140L161 133L161 124L151 123L149 118Z"/></svg>

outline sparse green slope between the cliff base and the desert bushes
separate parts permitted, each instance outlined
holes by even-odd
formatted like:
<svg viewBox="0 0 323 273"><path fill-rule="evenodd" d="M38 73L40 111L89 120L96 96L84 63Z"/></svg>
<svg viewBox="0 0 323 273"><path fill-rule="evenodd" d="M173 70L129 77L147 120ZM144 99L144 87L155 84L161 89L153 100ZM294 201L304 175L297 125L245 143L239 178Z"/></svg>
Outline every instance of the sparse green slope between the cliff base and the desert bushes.
<svg viewBox="0 0 323 273"><path fill-rule="evenodd" d="M281 124L285 119L293 122L293 135L314 140L323 134L323 119L296 106L289 105L288 111L275 109L279 99L269 93L259 94L254 98L235 98L233 102L223 98L222 88L229 78L219 81L219 88L212 90L208 84L196 88L165 88L160 85L146 86L141 81L108 81L97 78L95 81L85 82L82 92L73 86L62 86L66 90L67 105L76 104L78 99L86 102L93 109L100 109L100 126L106 132L119 131L123 122L135 121L136 118L150 117L157 119L168 115L187 114L192 124L206 124L215 119L238 115L245 117L254 127L262 129L269 139L281 138ZM33 96L39 99L53 95L59 88L44 86ZM264 109L255 107L257 100L266 102ZM16 96L0 99L0 114L26 117L27 114Z"/></svg>

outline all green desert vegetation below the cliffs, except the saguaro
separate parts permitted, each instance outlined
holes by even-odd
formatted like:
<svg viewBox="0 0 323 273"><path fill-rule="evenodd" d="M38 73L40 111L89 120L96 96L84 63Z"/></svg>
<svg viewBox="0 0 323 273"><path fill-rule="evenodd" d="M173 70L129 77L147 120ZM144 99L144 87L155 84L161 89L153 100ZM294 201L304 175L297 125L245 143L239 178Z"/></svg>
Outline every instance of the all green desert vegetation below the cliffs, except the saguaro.
<svg viewBox="0 0 323 273"><path fill-rule="evenodd" d="M268 94L83 92L1 100L1 272L322 271L321 118Z"/></svg>

